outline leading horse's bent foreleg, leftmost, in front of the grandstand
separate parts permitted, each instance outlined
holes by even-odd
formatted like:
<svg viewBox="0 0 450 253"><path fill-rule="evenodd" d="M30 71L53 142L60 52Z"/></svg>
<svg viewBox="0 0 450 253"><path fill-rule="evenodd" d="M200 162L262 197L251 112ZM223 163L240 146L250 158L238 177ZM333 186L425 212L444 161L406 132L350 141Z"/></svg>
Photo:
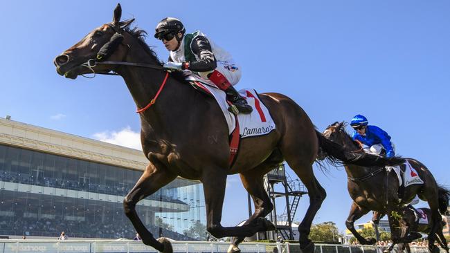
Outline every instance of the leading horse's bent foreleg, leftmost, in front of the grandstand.
<svg viewBox="0 0 450 253"><path fill-rule="evenodd" d="M125 196L123 200L123 208L125 215L133 223L136 232L141 236L145 245L150 245L160 252L171 252L170 243L163 240L162 243L156 241L152 233L150 233L142 223L136 213L136 203L143 198L154 194L158 189L167 185L169 182L177 178L177 175L170 174L167 169L158 169L150 163L145 169L141 178L139 178L133 189ZM167 247L166 247L167 246Z"/></svg>

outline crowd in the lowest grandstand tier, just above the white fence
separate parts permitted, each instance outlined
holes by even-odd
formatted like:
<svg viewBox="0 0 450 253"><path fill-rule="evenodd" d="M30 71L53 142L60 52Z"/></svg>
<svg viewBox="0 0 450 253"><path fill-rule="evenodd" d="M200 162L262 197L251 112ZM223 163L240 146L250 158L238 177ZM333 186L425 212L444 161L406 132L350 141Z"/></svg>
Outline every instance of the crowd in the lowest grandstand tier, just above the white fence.
<svg viewBox="0 0 450 253"><path fill-rule="evenodd" d="M177 241L197 241L195 238L168 229L147 225L154 236L169 237ZM64 219L17 218L13 221L0 221L0 234L17 236L50 236L60 238L64 231L71 238L134 238L136 230L129 221L98 223L94 221L66 221Z"/></svg>

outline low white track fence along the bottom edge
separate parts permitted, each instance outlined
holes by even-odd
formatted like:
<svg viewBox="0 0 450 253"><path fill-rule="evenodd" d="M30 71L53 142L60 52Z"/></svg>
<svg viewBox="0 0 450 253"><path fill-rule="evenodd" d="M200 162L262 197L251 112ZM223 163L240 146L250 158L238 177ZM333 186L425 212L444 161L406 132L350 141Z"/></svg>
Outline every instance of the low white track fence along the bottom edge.
<svg viewBox="0 0 450 253"><path fill-rule="evenodd" d="M226 252L229 243L172 242L177 253ZM301 253L298 243L242 243L242 253ZM314 253L382 253L384 247L361 245L316 244ZM141 241L55 241L55 240L0 240L0 253L147 253L158 252ZM411 247L411 253L426 253L426 247ZM441 250L441 252L443 252Z"/></svg>

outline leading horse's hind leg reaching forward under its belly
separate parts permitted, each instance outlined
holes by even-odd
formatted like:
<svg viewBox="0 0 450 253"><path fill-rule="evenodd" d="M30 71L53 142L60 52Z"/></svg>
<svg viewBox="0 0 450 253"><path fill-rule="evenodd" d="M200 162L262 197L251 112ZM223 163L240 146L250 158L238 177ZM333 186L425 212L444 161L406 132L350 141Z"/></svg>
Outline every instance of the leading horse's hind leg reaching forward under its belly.
<svg viewBox="0 0 450 253"><path fill-rule="evenodd" d="M255 205L255 212L252 216L244 223L248 225L257 221L258 218L264 218L273 210L273 205L264 189L264 182L262 180L263 173L267 171L268 167L275 167L275 165L267 165L263 163L262 165L246 171L240 174L242 185L249 192L251 198L253 198L253 203ZM238 251L237 245L244 241L244 237L235 237L231 243L233 252Z"/></svg>

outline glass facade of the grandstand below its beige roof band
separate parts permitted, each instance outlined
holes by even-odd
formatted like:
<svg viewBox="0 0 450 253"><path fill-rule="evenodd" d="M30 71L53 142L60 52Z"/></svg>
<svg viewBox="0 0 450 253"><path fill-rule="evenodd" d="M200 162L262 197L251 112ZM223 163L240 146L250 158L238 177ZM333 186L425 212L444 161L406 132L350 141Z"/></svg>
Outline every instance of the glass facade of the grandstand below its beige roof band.
<svg viewBox="0 0 450 253"><path fill-rule="evenodd" d="M0 235L133 238L123 197L142 171L0 144ZM138 215L156 237L193 240L204 224L201 185L177 179L141 200Z"/></svg>

